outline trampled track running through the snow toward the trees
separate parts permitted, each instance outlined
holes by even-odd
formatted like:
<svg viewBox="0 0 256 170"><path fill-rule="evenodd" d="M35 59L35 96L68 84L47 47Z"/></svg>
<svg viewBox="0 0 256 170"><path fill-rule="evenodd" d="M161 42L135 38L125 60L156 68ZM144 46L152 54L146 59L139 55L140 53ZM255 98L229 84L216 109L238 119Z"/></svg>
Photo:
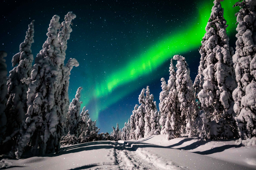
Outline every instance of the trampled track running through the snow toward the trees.
<svg viewBox="0 0 256 170"><path fill-rule="evenodd" d="M149 153L141 148L135 149L136 145L114 142L113 149L108 153L113 163L98 163L86 165L90 170L96 169L120 169L120 170L183 170L186 169L175 165L157 155ZM135 147L134 147L135 146Z"/></svg>

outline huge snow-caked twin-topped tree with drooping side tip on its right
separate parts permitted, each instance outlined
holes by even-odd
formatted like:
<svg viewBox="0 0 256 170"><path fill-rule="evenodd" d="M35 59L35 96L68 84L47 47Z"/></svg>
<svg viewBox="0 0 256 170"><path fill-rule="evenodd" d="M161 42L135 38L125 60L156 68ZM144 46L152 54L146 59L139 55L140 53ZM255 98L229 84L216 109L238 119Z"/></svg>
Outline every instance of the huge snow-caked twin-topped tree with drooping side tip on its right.
<svg viewBox="0 0 256 170"><path fill-rule="evenodd" d="M70 24L75 14L69 12L65 21L59 23L59 16L53 16L47 40L37 54L32 68L27 92L28 111L26 122L18 141L17 158L29 145L32 153L45 154L60 148L63 123L66 119L67 88L71 68L78 62L70 59L66 65L65 50L72 29Z"/></svg>

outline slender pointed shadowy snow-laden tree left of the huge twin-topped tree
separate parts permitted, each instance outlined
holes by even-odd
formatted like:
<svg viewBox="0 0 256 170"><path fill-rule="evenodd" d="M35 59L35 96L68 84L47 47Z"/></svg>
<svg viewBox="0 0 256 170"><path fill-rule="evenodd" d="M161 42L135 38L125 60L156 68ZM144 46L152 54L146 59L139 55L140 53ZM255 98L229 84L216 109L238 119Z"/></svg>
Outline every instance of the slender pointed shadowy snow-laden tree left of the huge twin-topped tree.
<svg viewBox="0 0 256 170"><path fill-rule="evenodd" d="M7 81L9 98L5 109L7 131L4 142L8 146L15 144L16 134L22 124L25 123L28 85L22 83L21 80L29 78L31 74L33 62L31 44L34 42L34 21L28 25L26 34L24 42L20 44L20 52L12 58L12 66L14 68L10 71L9 80ZM12 140L9 141L10 139ZM8 147L7 145L5 147Z"/></svg>

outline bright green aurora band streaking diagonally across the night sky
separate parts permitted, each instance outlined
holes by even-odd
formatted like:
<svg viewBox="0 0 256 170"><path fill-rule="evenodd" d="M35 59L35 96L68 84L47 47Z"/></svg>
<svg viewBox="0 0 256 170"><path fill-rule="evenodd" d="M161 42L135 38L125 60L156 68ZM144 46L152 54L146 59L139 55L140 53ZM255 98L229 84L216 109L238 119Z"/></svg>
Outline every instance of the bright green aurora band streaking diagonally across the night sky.
<svg viewBox="0 0 256 170"><path fill-rule="evenodd" d="M221 2L224 8L224 18L229 25L227 28L228 35L234 36L236 29L235 13L239 10L232 6L237 0ZM95 111L91 117L98 119L100 111L103 111L110 105L119 101L122 97L127 96L135 88L129 90L118 91L118 94L108 97L115 89L120 86L127 85L138 79L140 76L147 76L161 66L167 60L170 60L175 54L184 54L189 51L198 50L201 46L202 37L205 34L205 26L208 22L213 3L205 0L198 5L197 16L191 18L190 23L184 23L183 29L176 29L169 36L158 41L156 44L149 46L145 53L142 53L136 60L131 60L125 67L113 72L104 81L96 83L96 87L89 94L91 98L85 98L82 107L89 102L94 102ZM85 93L85 92L84 92ZM84 95L88 96L88 94ZM104 102L100 102L104 101ZM100 103L100 105L98 105Z"/></svg>

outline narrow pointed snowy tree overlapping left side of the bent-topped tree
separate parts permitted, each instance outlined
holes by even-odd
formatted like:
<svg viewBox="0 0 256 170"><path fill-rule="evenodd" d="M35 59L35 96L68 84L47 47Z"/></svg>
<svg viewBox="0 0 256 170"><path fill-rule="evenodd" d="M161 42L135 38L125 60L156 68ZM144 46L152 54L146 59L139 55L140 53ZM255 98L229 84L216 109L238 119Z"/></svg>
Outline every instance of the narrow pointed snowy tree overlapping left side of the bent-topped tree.
<svg viewBox="0 0 256 170"><path fill-rule="evenodd" d="M163 125L164 130L163 134L166 134L166 138L168 140L179 137L180 129L181 129L181 118L180 118L180 110L178 107L178 93L176 89L176 71L173 65L173 59L171 59L171 64L169 67L169 80L168 80L168 89L169 93L167 97L164 99L165 105L163 107L163 113L166 115L166 121Z"/></svg>

